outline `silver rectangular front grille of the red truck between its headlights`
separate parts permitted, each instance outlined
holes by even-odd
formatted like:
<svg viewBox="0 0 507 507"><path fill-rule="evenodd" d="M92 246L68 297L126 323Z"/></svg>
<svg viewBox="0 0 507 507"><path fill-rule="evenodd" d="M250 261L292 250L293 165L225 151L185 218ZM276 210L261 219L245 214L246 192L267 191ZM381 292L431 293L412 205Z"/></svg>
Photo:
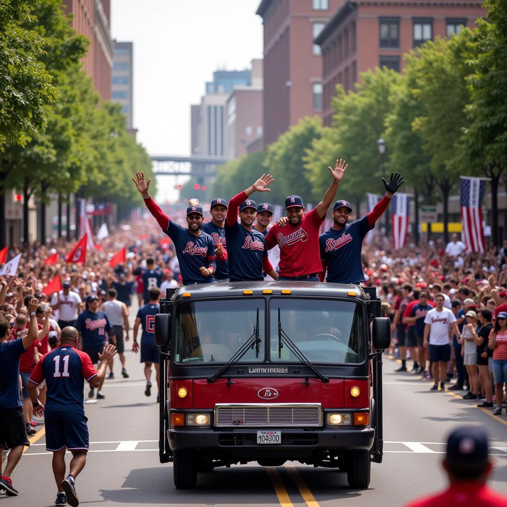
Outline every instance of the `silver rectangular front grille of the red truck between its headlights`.
<svg viewBox="0 0 507 507"><path fill-rule="evenodd" d="M217 404L215 427L322 426L320 404Z"/></svg>

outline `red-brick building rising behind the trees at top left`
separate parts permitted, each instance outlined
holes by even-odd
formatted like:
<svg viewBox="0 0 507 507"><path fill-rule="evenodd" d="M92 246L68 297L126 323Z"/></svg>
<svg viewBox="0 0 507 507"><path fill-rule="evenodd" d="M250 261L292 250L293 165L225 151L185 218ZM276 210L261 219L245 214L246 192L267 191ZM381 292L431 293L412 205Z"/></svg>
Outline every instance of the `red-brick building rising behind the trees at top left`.
<svg viewBox="0 0 507 507"><path fill-rule="evenodd" d="M110 0L62 0L72 26L90 41L83 69L93 79L102 100L111 100L114 47L110 32Z"/></svg>

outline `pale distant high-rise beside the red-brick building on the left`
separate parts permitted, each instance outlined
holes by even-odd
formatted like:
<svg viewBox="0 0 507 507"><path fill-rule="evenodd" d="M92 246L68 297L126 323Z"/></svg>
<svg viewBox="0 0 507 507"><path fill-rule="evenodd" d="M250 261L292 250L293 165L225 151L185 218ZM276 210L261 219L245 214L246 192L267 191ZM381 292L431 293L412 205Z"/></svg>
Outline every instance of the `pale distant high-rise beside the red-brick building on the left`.
<svg viewBox="0 0 507 507"><path fill-rule="evenodd" d="M115 55L112 71L113 102L122 105L122 111L127 117L127 128L133 128L133 50L131 42L114 41Z"/></svg>

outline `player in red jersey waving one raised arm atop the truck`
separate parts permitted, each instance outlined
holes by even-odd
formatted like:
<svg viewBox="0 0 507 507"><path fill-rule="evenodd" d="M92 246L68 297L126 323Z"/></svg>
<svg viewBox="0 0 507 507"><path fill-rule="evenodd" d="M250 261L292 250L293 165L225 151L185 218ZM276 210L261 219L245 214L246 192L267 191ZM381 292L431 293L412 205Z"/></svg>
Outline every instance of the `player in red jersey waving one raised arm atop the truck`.
<svg viewBox="0 0 507 507"><path fill-rule="evenodd" d="M279 280L305 280L318 282L322 270L318 244L319 229L336 197L338 187L348 164L337 160L335 168L328 167L333 182L322 200L305 212L303 199L290 195L285 199L287 216L280 219L266 236L268 249L280 248Z"/></svg>

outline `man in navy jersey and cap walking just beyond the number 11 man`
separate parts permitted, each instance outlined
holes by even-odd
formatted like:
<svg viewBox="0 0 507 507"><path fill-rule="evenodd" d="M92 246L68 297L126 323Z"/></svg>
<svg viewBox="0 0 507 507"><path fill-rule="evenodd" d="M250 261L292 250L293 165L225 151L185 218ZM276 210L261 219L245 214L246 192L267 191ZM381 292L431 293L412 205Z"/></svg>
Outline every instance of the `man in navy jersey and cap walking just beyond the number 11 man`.
<svg viewBox="0 0 507 507"><path fill-rule="evenodd" d="M90 295L86 298L86 310L81 312L76 320L76 329L79 332L78 348L85 354L88 354L93 365L98 364L100 354L104 349L106 334L111 338L116 345L116 336L111 322L107 315L102 310L98 309L98 298L95 295ZM102 384L104 379L100 382L97 390L97 400L105 398L102 392ZM93 398L94 386L90 387L88 393L89 398Z"/></svg>

